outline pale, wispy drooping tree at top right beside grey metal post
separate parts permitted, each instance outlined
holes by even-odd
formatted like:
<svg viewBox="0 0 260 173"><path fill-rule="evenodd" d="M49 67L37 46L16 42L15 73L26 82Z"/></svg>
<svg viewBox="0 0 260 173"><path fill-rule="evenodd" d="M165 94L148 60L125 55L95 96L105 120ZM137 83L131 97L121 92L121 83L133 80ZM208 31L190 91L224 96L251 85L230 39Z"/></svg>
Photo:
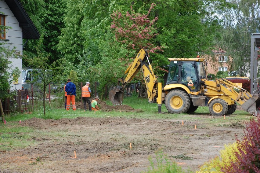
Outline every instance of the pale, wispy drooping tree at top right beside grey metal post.
<svg viewBox="0 0 260 173"><path fill-rule="evenodd" d="M245 76L250 72L251 33L260 29L260 4L257 0L230 2L235 7L224 11L216 45L226 51L230 71Z"/></svg>

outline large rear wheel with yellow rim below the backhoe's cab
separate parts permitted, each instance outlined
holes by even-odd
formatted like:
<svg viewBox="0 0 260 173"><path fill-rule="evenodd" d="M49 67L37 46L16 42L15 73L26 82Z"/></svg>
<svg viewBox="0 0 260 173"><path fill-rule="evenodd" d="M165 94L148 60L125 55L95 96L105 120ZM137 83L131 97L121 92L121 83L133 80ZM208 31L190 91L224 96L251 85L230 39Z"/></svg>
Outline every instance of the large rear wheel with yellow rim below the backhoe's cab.
<svg viewBox="0 0 260 173"><path fill-rule="evenodd" d="M186 113L190 108L190 97L183 90L172 90L165 97L165 107L170 113Z"/></svg>

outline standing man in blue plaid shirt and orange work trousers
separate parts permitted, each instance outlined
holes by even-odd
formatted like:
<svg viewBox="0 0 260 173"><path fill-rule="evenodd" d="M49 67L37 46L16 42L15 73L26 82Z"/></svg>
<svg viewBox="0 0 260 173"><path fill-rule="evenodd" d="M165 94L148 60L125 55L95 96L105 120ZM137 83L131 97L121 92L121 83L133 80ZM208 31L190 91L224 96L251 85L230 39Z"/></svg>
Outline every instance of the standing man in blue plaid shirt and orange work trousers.
<svg viewBox="0 0 260 173"><path fill-rule="evenodd" d="M65 87L65 91L67 92L67 106L66 110L70 110L70 101L72 104L72 109L76 110L76 104L75 104L75 96L76 96L76 85L71 82L71 79L67 80L67 84Z"/></svg>

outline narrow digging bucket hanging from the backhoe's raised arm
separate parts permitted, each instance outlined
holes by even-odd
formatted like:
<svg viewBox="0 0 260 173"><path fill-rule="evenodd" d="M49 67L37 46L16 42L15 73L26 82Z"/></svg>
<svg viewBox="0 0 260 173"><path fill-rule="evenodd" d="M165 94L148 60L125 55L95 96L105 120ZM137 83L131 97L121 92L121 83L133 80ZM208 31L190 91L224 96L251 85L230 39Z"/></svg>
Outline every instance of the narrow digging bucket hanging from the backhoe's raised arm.
<svg viewBox="0 0 260 173"><path fill-rule="evenodd" d="M121 86L116 86L114 87L114 90L110 90L108 96L113 105L122 105L124 92Z"/></svg>

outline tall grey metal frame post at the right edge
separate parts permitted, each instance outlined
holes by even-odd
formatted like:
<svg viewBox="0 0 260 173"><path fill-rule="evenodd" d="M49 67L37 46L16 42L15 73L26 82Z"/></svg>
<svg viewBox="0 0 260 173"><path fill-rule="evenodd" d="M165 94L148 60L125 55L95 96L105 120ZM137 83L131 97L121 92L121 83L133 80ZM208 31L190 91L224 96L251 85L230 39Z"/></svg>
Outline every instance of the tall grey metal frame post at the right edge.
<svg viewBox="0 0 260 173"><path fill-rule="evenodd" d="M251 34L251 57L250 57L250 93L253 94L256 90L256 84L253 85L254 81L257 82L257 51L260 50L260 33Z"/></svg>

